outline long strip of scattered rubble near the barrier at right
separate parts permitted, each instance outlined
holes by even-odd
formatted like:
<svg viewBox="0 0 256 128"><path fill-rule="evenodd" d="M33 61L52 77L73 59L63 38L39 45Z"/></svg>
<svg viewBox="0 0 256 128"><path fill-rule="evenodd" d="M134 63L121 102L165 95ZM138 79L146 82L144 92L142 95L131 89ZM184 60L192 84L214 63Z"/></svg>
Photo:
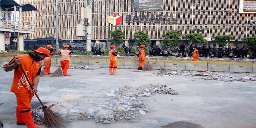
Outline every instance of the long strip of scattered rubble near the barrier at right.
<svg viewBox="0 0 256 128"><path fill-rule="evenodd" d="M196 79L203 79L203 80L220 80L220 81L256 81L256 75L254 74L236 74L230 75L225 73L217 73L217 72L196 72L196 71L169 71L166 73L154 73L155 76L197 76Z"/></svg>

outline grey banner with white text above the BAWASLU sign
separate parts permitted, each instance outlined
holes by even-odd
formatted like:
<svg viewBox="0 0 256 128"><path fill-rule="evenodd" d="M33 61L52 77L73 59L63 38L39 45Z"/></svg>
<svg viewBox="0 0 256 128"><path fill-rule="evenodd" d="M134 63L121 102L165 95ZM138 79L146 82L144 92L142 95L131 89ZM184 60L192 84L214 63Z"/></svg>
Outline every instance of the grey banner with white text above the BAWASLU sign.
<svg viewBox="0 0 256 128"><path fill-rule="evenodd" d="M162 11L162 0L133 0L134 11Z"/></svg>

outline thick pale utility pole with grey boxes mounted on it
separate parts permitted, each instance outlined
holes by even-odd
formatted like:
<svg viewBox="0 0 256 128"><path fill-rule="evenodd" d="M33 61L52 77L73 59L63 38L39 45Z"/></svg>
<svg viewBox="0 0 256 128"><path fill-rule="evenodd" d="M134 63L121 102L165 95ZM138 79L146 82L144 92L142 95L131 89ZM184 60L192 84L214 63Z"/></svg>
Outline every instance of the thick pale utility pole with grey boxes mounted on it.
<svg viewBox="0 0 256 128"><path fill-rule="evenodd" d="M87 24L86 25L86 51L91 52L91 39L92 39L92 4L93 0L87 0Z"/></svg>

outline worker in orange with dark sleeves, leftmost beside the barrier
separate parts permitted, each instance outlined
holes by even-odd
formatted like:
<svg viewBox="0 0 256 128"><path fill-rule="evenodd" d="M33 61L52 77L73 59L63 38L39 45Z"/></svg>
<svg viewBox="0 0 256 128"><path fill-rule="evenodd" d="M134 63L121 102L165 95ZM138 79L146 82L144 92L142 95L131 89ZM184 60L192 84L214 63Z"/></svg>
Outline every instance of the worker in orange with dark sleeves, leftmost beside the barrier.
<svg viewBox="0 0 256 128"><path fill-rule="evenodd" d="M53 52L53 47L51 45L47 45L46 49L48 49L50 52ZM50 53L49 57L44 58L44 75L52 74L50 71L52 65L52 55L54 55L54 53Z"/></svg>

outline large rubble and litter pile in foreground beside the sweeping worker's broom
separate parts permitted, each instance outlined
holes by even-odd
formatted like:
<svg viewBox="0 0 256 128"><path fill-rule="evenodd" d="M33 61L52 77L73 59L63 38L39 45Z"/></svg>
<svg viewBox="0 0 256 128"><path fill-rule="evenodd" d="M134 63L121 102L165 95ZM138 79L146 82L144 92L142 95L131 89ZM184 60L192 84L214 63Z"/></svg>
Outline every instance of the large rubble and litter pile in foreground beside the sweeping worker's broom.
<svg viewBox="0 0 256 128"><path fill-rule="evenodd" d="M102 124L118 123L118 121L132 120L147 115L151 111L148 103L154 101L145 102L143 97L149 97L157 93L179 94L165 85L153 85L148 89L142 89L138 93L132 93L129 87L122 87L104 93L92 92L91 97L83 96L77 100L61 102L50 109L67 121L95 120L95 123ZM92 98L93 96L96 98ZM161 100L155 101L163 102ZM40 115L43 113L42 111L41 108L33 109L32 115L37 124L43 122L44 116Z"/></svg>

